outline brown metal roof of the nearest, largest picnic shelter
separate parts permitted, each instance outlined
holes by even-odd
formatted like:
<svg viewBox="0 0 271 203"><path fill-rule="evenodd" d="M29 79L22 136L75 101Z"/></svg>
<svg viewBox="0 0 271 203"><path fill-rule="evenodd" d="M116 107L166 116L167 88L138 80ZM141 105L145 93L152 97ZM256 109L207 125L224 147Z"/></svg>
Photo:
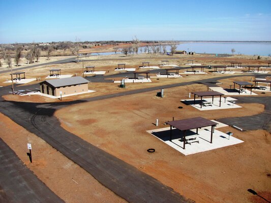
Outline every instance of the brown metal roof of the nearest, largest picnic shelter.
<svg viewBox="0 0 271 203"><path fill-rule="evenodd" d="M195 117L195 118L176 120L176 121L168 121L166 122L166 124L169 124L172 127L175 127L179 130L190 130L190 129L200 128L200 127L217 125L216 122L207 120L202 117Z"/></svg>

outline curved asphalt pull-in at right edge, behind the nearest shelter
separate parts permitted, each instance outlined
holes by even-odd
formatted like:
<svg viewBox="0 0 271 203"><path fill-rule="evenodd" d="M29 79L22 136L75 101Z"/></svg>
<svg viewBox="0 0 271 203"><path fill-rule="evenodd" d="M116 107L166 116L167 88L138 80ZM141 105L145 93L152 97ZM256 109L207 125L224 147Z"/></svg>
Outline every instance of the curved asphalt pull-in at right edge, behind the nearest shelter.
<svg viewBox="0 0 271 203"><path fill-rule="evenodd" d="M235 125L244 130L257 130L264 129L268 132L271 132L271 97L235 97L238 100L237 104L242 103L258 103L265 106L264 112L253 115L253 116L244 116L244 117L230 117L230 118L221 118L218 121L228 124Z"/></svg>

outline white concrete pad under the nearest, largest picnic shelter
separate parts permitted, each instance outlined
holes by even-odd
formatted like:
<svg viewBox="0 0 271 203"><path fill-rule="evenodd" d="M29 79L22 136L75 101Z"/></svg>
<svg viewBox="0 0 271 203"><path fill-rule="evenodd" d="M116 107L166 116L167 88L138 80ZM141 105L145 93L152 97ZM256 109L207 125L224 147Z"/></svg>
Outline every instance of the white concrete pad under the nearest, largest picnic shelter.
<svg viewBox="0 0 271 203"><path fill-rule="evenodd" d="M172 142L169 141L170 127L147 130L147 132L184 155L205 152L244 142L232 136L229 137L228 134L215 129L213 133L213 143L210 143L210 128L211 127L204 127L198 129L199 137L197 139L199 140L199 143L194 142L191 143L191 145L186 144L186 149L183 149L184 142L181 141L183 140L181 139L183 136L179 133L178 129L172 128ZM196 129L188 130L187 135L190 134L196 134Z"/></svg>

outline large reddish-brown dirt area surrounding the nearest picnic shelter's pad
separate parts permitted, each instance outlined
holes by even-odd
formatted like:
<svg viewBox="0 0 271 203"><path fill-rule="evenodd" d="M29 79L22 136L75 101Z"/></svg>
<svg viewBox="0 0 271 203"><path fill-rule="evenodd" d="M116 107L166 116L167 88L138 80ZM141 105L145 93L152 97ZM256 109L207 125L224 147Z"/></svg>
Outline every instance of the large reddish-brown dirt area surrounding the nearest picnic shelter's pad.
<svg viewBox="0 0 271 203"><path fill-rule="evenodd" d="M56 112L62 126L82 139L134 165L139 170L172 187L175 191L198 202L247 202L247 189L253 185L259 191L270 190L270 133L264 130L232 131L243 144L184 156L145 130L165 127L163 123L202 116L208 119L230 117L229 110L200 112L180 103L191 90L205 90L204 85L191 85L165 90L159 98L156 91L83 103ZM234 116L261 113L263 105L240 104ZM183 109L178 109L183 106ZM251 108L253 106L253 108ZM95 109L95 111L93 111ZM251 110L252 109L252 110ZM81 120L95 119L93 123ZM159 126L153 123L159 119ZM68 122L67 126L63 121ZM255 139L255 136L257 139ZM155 153L148 153L155 148ZM215 178L214 178L215 177Z"/></svg>

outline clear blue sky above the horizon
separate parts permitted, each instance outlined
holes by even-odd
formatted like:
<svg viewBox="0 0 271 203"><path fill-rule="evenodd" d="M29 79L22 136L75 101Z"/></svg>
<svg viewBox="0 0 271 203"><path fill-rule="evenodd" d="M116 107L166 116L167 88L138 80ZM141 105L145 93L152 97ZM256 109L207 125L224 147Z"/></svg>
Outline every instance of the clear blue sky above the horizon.
<svg viewBox="0 0 271 203"><path fill-rule="evenodd" d="M0 0L0 43L271 41L271 0Z"/></svg>

